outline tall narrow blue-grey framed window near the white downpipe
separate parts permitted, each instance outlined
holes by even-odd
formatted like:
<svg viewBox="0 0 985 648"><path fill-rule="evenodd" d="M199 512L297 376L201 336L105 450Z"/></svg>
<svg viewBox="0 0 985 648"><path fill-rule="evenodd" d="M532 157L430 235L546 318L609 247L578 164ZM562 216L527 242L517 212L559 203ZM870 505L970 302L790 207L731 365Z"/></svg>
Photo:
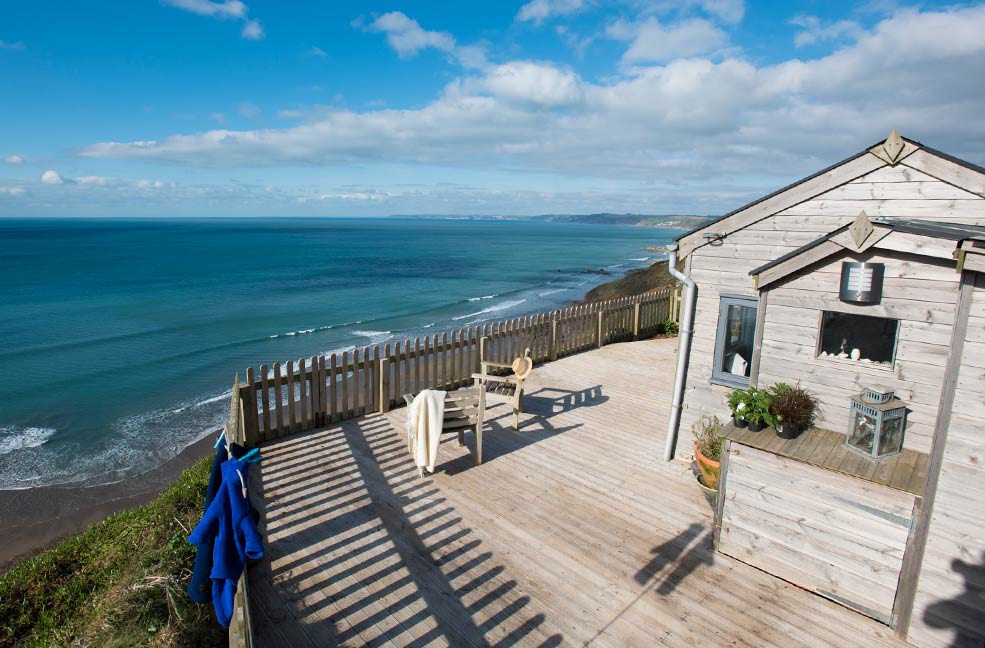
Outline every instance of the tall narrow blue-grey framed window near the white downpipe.
<svg viewBox="0 0 985 648"><path fill-rule="evenodd" d="M718 337L711 382L748 387L752 346L756 337L755 297L722 295L718 306Z"/></svg>

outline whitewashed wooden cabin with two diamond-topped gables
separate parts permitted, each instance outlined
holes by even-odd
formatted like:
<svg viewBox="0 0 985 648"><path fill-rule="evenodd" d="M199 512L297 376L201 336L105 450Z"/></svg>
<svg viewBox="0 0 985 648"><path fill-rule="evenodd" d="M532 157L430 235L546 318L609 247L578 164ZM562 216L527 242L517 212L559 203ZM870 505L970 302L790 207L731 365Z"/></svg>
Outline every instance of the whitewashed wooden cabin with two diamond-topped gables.
<svg viewBox="0 0 985 648"><path fill-rule="evenodd" d="M727 433L718 550L918 646L985 640L983 196L985 169L894 131L678 239L697 300L677 456L732 389L821 403L794 440ZM899 452L848 447L866 389L902 401Z"/></svg>

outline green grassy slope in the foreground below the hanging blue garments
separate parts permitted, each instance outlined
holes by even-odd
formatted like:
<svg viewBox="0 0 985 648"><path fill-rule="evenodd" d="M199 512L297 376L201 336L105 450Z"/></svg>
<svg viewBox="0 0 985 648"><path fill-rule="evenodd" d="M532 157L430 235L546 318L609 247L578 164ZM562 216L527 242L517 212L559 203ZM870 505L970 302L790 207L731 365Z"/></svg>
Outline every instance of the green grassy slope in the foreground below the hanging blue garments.
<svg viewBox="0 0 985 648"><path fill-rule="evenodd" d="M185 594L211 465L0 576L0 648L225 644L212 606Z"/></svg>

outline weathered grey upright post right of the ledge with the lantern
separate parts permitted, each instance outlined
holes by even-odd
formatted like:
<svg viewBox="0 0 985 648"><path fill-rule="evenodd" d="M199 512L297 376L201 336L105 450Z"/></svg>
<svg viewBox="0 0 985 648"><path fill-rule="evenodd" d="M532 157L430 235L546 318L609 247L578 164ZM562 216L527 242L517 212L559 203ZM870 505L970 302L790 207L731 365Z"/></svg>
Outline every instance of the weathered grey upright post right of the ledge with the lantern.
<svg viewBox="0 0 985 648"><path fill-rule="evenodd" d="M968 316L971 312L971 300L975 291L975 273L961 273L961 287L958 292L958 303L954 314L954 328L951 331L951 345L944 369L944 384L941 388L940 406L934 422L933 444L930 448L930 459L927 462L927 477L924 482L923 495L920 501L919 517L911 532L912 542L903 556L900 568L899 587L896 601L893 605L893 617L896 620L896 634L906 639L912 621L913 605L917 595L917 585L923 566L924 552L927 548L927 538L930 535L930 522L934 513L934 500L937 497L937 482L941 467L944 463L944 449L947 445L947 430L951 425L951 411L954 407L954 391L957 388L958 371L961 367L961 357L964 354L964 341L968 331Z"/></svg>

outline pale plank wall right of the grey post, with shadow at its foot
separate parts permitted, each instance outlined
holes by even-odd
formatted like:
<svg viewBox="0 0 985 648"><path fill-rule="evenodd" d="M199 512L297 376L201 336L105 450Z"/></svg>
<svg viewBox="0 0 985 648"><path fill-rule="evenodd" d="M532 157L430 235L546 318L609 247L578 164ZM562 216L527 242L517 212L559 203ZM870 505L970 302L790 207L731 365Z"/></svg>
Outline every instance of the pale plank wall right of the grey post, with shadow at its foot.
<svg viewBox="0 0 985 648"><path fill-rule="evenodd" d="M985 643L985 277L978 275L908 640Z"/></svg>

